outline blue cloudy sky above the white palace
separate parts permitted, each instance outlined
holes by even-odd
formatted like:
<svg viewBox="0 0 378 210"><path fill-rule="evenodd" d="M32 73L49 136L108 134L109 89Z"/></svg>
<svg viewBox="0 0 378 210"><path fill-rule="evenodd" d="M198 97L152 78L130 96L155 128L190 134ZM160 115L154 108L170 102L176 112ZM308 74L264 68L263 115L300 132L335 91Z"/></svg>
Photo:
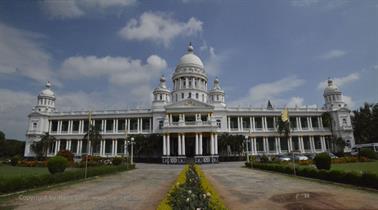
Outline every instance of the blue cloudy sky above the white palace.
<svg viewBox="0 0 378 210"><path fill-rule="evenodd" d="M25 139L51 81L58 111L149 107L192 42L230 106L378 101L376 0L0 1L0 130Z"/></svg>

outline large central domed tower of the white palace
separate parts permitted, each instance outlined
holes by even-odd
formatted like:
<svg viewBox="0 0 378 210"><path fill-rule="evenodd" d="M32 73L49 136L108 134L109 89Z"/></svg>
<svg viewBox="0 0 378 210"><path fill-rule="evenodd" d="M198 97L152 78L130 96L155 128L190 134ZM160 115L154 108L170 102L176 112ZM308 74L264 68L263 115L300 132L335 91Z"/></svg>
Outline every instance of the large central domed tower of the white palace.
<svg viewBox="0 0 378 210"><path fill-rule="evenodd" d="M192 98L207 103L207 74L201 59L189 43L187 52L180 58L172 76L172 102Z"/></svg>

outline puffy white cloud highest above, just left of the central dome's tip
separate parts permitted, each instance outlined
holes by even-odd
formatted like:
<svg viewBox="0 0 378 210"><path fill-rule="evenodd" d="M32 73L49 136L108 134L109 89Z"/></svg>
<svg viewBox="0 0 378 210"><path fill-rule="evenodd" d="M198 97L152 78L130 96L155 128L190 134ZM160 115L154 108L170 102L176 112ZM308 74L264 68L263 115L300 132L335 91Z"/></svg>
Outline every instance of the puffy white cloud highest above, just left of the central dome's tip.
<svg viewBox="0 0 378 210"><path fill-rule="evenodd" d="M202 24L194 17L188 22L179 22L164 13L145 12L139 20L131 19L119 31L119 35L127 40L148 40L167 47L179 35L189 36L201 32Z"/></svg>

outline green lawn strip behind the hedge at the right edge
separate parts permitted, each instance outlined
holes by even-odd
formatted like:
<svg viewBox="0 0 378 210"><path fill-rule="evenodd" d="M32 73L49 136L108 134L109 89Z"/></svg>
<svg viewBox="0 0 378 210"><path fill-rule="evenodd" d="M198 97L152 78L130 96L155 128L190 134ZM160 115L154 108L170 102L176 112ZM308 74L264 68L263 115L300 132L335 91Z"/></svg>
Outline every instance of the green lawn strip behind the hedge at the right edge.
<svg viewBox="0 0 378 210"><path fill-rule="evenodd" d="M378 161L332 164L331 169L340 170L340 171L356 171L356 172L366 171L366 172L378 174Z"/></svg>

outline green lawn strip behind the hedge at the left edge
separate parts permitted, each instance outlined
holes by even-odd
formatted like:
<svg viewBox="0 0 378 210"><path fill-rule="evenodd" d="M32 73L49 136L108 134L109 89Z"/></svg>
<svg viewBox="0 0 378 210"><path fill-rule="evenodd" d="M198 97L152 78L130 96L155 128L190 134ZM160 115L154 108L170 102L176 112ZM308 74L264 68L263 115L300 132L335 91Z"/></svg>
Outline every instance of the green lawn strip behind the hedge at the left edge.
<svg viewBox="0 0 378 210"><path fill-rule="evenodd" d="M66 170L76 170L73 168L68 168ZM10 165L0 165L0 177L14 177L21 175L40 175L49 174L49 170L45 167L21 167L21 166L10 166Z"/></svg>

